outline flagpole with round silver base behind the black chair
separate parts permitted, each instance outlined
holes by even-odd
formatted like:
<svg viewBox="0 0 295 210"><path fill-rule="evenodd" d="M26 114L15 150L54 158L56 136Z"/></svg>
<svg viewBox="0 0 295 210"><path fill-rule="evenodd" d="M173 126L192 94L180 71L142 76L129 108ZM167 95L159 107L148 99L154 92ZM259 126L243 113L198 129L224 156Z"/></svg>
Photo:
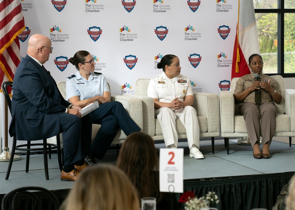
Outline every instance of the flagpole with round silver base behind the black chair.
<svg viewBox="0 0 295 210"><path fill-rule="evenodd" d="M7 102L4 99L4 129L5 129L5 133L4 133L4 148L3 148L3 152L0 155L0 162L7 162L10 160L11 158L11 154L9 152L9 148L8 148L8 109L7 109ZM17 161L20 160L20 156L19 155L14 155L13 157L13 161Z"/></svg>

